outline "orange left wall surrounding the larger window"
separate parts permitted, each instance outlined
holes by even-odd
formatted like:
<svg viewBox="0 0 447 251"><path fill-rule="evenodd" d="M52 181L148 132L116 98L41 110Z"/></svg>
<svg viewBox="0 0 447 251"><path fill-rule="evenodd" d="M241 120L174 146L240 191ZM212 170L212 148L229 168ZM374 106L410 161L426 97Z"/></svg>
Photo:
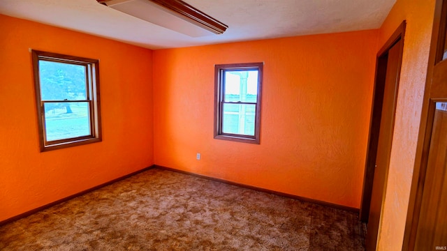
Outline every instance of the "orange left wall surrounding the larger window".
<svg viewBox="0 0 447 251"><path fill-rule="evenodd" d="M0 221L154 164L152 51L0 15ZM103 142L39 152L29 48L100 60Z"/></svg>

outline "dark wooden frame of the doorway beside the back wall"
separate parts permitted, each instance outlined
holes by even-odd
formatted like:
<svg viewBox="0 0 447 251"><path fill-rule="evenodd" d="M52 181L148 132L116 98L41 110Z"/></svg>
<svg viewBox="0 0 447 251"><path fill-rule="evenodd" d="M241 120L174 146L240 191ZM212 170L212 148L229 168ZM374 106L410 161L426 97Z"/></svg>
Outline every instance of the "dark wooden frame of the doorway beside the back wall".
<svg viewBox="0 0 447 251"><path fill-rule="evenodd" d="M377 52L376 56L376 73L374 79L374 91L372 97L372 109L369 123L369 135L367 144L367 155L365 159L365 174L363 178L362 201L360 203L360 220L367 222L369 217L369 207L371 205L372 184L374 181L374 171L376 165L377 145L379 144L379 131L381 123L383 92L385 89L386 67L388 61L388 51L402 40L404 43L406 21L404 20L395 30L393 35L388 38L386 43ZM400 50L398 61L397 82L400 81L400 70L402 66L402 55L404 53L404 46ZM398 88L398 87L397 87ZM397 89L395 90L397 91ZM394 118L393 118L394 121ZM388 169L388 167L386 167ZM382 201L383 203L383 201Z"/></svg>

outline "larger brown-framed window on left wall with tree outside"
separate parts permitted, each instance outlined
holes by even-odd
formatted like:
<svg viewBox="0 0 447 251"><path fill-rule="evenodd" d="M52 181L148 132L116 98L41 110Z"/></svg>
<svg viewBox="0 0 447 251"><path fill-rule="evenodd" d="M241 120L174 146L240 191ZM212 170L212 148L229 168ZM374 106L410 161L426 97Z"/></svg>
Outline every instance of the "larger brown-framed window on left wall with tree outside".
<svg viewBox="0 0 447 251"><path fill-rule="evenodd" d="M100 142L98 60L31 54L41 151Z"/></svg>

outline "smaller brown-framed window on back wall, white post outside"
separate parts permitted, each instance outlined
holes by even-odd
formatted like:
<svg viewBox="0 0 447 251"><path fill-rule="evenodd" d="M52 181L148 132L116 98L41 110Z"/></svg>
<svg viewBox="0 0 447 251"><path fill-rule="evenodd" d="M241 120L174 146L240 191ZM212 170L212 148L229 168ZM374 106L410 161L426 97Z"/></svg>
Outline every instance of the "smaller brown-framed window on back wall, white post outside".
<svg viewBox="0 0 447 251"><path fill-rule="evenodd" d="M215 66L214 139L259 144L263 63Z"/></svg>

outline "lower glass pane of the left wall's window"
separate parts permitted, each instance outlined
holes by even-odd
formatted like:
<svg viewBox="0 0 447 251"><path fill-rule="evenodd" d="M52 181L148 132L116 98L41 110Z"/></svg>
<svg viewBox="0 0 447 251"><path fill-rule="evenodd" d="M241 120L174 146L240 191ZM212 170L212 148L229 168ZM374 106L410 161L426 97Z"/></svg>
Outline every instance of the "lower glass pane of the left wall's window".
<svg viewBox="0 0 447 251"><path fill-rule="evenodd" d="M47 141L90 135L88 102L45 102Z"/></svg>

